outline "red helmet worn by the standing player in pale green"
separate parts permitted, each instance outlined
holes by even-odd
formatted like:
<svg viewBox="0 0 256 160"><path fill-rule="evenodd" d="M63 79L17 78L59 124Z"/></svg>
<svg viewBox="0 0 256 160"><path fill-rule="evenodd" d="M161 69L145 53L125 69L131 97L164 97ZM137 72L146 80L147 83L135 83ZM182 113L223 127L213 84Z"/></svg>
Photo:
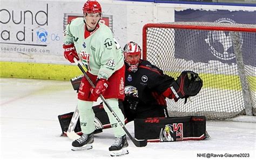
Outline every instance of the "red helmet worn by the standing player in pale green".
<svg viewBox="0 0 256 160"><path fill-rule="evenodd" d="M100 13L102 14L102 7L97 1L87 1L84 4L83 12L85 13Z"/></svg>

